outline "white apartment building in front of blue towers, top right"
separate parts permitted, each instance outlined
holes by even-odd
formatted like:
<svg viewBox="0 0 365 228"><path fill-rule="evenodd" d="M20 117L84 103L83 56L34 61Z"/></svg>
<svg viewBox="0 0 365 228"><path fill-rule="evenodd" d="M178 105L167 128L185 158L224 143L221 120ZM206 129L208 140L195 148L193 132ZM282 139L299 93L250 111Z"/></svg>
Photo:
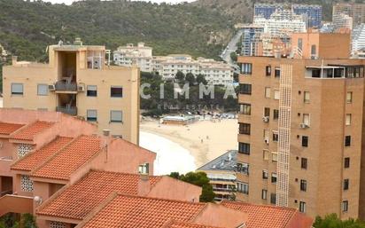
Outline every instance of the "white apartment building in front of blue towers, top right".
<svg viewBox="0 0 365 228"><path fill-rule="evenodd" d="M253 24L264 28L264 33L275 37L285 37L291 33L304 33L307 31L306 19L291 10L277 9L269 19L258 15L254 16Z"/></svg>

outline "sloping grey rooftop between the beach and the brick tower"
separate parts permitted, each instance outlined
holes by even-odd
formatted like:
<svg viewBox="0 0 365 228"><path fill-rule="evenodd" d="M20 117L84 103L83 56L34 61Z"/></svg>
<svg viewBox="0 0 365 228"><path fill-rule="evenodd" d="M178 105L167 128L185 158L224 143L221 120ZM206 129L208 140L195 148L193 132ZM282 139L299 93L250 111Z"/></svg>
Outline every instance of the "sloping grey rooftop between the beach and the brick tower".
<svg viewBox="0 0 365 228"><path fill-rule="evenodd" d="M209 161L198 170L237 170L237 150L229 150L213 161Z"/></svg>

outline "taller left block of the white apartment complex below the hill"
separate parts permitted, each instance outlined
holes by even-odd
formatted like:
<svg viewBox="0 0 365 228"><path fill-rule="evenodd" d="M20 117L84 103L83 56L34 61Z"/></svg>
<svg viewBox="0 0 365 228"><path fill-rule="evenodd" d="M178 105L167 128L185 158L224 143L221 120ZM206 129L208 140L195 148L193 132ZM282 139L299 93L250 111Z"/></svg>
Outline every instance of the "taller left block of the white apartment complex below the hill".
<svg viewBox="0 0 365 228"><path fill-rule="evenodd" d="M144 46L144 43L128 43L126 46L118 47L113 51L114 63L123 67L136 65L141 71L151 72L152 48Z"/></svg>

